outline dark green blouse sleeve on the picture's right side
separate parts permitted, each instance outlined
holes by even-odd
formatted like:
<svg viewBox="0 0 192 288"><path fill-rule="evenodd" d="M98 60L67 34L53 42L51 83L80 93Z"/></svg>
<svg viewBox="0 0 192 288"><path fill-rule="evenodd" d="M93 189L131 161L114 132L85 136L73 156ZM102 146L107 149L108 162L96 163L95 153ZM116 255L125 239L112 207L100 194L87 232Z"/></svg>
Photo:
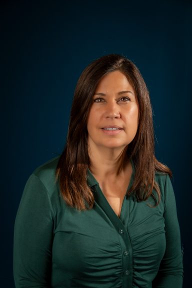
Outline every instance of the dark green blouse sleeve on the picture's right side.
<svg viewBox="0 0 192 288"><path fill-rule="evenodd" d="M166 175L164 187L164 222L166 249L153 288L181 288L183 277L180 230L172 184Z"/></svg>

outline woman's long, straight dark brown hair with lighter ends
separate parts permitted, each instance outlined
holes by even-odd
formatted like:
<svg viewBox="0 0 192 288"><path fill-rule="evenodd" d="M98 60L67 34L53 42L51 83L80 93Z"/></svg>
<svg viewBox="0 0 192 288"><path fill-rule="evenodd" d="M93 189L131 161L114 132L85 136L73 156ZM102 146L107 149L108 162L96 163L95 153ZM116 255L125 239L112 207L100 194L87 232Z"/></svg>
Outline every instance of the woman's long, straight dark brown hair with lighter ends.
<svg viewBox="0 0 192 288"><path fill-rule="evenodd" d="M127 191L138 201L149 196L160 200L160 190L155 182L155 171L168 173L170 169L154 156L154 132L152 109L146 84L133 62L118 54L104 55L91 62L82 71L73 96L68 133L64 150L59 157L56 179L65 202L79 210L90 209L94 196L87 184L87 169L90 167L87 144L87 119L93 102L93 95L101 78L119 70L132 85L139 106L137 132L121 154L121 167L132 159L135 174ZM154 196L155 191L155 196Z"/></svg>

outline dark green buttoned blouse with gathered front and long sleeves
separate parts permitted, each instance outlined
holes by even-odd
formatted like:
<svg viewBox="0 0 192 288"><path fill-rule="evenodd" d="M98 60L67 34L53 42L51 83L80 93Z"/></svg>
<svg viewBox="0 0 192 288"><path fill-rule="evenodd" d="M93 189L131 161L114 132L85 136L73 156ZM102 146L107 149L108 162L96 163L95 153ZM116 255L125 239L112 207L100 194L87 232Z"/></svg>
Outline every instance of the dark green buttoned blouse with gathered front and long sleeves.
<svg viewBox="0 0 192 288"><path fill-rule="evenodd" d="M158 206L151 207L151 198L137 202L125 196L117 217L90 171L93 208L68 207L55 183L57 160L37 168L24 188L14 230L16 288L181 288L180 233L169 177L155 176Z"/></svg>

